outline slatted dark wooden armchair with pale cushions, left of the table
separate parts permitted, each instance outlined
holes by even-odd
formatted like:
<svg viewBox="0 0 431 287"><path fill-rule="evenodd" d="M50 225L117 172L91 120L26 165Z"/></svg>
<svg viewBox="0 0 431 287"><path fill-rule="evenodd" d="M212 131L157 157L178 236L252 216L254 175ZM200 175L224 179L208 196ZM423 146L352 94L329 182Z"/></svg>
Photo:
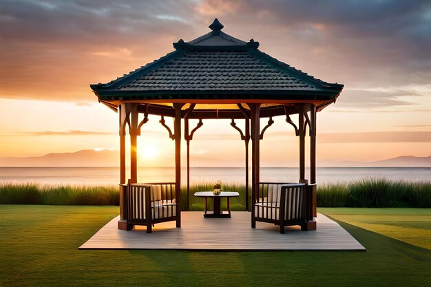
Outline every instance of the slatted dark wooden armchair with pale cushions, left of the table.
<svg viewBox="0 0 431 287"><path fill-rule="evenodd" d="M175 220L180 227L175 183L127 184L126 206L127 229L145 225L151 233L154 224Z"/></svg>

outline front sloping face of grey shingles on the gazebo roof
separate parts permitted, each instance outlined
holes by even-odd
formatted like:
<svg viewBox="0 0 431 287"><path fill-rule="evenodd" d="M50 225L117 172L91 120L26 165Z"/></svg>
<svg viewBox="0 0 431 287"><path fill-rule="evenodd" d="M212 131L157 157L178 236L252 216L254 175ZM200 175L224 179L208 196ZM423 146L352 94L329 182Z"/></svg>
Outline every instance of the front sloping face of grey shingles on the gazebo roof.
<svg viewBox="0 0 431 287"><path fill-rule="evenodd" d="M133 90L304 89L308 85L246 51L187 51L184 55L118 88Z"/></svg>

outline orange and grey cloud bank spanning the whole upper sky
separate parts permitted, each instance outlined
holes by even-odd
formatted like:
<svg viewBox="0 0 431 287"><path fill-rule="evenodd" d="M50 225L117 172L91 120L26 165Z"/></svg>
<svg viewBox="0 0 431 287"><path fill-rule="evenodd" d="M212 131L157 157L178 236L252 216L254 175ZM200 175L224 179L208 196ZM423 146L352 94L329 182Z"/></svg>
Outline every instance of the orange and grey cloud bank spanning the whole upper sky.
<svg viewBox="0 0 431 287"><path fill-rule="evenodd" d="M6 0L0 91L94 101L90 83L158 59L172 42L208 32L214 17L229 34L254 38L262 51L325 81L352 89L423 85L431 78L430 13L431 2L419 0ZM385 93L363 96L376 105L409 104Z"/></svg>

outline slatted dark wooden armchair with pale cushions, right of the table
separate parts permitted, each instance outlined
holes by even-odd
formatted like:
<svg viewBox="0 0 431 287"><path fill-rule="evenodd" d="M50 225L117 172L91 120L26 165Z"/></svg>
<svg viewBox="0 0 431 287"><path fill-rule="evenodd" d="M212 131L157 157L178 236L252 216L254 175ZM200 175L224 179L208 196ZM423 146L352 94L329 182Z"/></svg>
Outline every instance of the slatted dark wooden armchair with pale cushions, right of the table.
<svg viewBox="0 0 431 287"><path fill-rule="evenodd" d="M303 231L315 230L312 211L312 186L297 183L260 182L255 191L251 226L256 221L280 226L299 225Z"/></svg>

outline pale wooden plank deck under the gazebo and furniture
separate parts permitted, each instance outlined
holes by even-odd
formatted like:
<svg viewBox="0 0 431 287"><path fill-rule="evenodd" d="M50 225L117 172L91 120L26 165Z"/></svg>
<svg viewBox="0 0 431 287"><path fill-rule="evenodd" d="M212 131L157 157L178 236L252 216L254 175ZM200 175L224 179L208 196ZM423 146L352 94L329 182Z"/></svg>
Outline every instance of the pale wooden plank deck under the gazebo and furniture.
<svg viewBox="0 0 431 287"><path fill-rule="evenodd" d="M182 212L182 227L175 222L156 224L153 233L144 226L133 231L117 229L118 217L108 222L80 249L171 249L196 251L327 250L365 251L339 224L317 215L317 231L301 231L257 222L251 228L251 213L232 212L231 218L204 218L202 212Z"/></svg>

